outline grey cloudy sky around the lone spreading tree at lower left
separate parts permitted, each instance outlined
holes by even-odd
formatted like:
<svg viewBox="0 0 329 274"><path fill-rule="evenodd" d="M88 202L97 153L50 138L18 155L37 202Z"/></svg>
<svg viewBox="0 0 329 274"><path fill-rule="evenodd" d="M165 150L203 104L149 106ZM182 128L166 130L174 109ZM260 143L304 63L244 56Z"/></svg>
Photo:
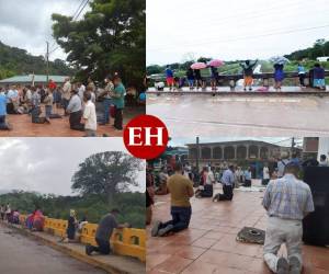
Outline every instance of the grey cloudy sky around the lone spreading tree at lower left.
<svg viewBox="0 0 329 274"><path fill-rule="evenodd" d="M79 163L97 152L126 151L122 138L0 138L0 192L36 191L71 194L71 178ZM139 172L145 191L145 171Z"/></svg>

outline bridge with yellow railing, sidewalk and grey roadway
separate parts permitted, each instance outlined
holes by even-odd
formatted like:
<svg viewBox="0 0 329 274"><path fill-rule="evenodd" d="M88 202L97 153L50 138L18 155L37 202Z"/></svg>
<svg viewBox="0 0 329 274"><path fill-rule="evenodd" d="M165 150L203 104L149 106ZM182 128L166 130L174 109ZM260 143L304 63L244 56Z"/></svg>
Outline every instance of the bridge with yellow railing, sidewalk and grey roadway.
<svg viewBox="0 0 329 274"><path fill-rule="evenodd" d="M0 222L0 242L10 244L12 248L2 248L2 251L10 255L18 256L15 263L7 261L0 256L0 273L145 273L146 258L146 232L144 229L123 229L116 230L111 238L114 254L92 255L84 253L87 243L95 244L94 235L98 225L87 224L77 243L60 243L58 240L66 235L67 221L61 219L45 219L43 232L30 231L25 228L26 216L20 216L22 225L12 225ZM12 239L10 238L12 237ZM10 242L22 241L20 244ZM24 246L23 248L21 246ZM42 247L37 250L34 247ZM39 249L43 249L41 252ZM55 251L56 250L56 251ZM10 254L10 253L14 254ZM54 255L53 255L54 254ZM21 265L21 258L25 256L23 262L29 262L29 270ZM49 271L45 272L43 262L48 256L54 256L49 263ZM4 256L5 258L5 256ZM59 258L57 261L56 258ZM19 260L20 259L20 260ZM49 259L47 259L49 260ZM39 263L39 261L42 263ZM24 263L23 263L24 264ZM45 263L46 264L46 263ZM41 269L39 269L41 267ZM2 270L15 270L2 272Z"/></svg>

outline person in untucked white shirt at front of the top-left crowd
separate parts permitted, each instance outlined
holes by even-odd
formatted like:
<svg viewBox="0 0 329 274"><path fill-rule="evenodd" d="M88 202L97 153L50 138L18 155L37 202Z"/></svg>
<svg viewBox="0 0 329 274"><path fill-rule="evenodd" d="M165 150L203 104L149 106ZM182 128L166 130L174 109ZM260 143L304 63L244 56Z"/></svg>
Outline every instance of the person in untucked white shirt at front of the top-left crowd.
<svg viewBox="0 0 329 274"><path fill-rule="evenodd" d="M84 132L86 137L97 137L98 122L94 103L91 101L91 93L83 93L84 111L83 111L83 121L84 121Z"/></svg>

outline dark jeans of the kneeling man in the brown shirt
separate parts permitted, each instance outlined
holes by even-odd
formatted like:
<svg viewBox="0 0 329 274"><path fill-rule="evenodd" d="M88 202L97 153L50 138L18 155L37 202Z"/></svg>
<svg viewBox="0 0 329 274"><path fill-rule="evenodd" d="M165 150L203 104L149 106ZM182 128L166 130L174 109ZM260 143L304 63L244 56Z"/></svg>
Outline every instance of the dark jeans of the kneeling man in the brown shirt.
<svg viewBox="0 0 329 274"><path fill-rule="evenodd" d="M171 207L172 220L161 224L159 228L161 229L167 227L168 225L172 225L173 228L170 230L172 232L178 232L183 229L186 229L190 225L191 215L192 215L191 206L190 207L172 206Z"/></svg>

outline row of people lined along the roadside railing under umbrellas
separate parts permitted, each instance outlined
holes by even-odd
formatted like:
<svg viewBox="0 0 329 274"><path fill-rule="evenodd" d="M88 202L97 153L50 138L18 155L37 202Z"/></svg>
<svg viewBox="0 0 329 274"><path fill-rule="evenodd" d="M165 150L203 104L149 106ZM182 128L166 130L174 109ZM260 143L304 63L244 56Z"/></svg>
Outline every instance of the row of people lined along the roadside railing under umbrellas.
<svg viewBox="0 0 329 274"><path fill-rule="evenodd" d="M243 90L252 91L253 85L253 76L254 76L254 68L258 64L258 60L251 61L246 60L243 62L240 62L239 66L242 69L243 75ZM216 67L208 66L209 69L209 76L211 76L211 85L212 90L216 91L217 85L219 83L219 73L218 69ZM299 84L300 87L305 87L305 79L306 79L306 69L303 66L302 62L297 65L297 72L299 78ZM182 87L188 85L190 87L190 90L193 90L195 87L196 89L206 88L206 79L202 77L200 69L192 69L191 67L188 68L186 73L184 77L174 77L174 72L171 69L170 66L166 67L166 81L167 85L170 90L174 90L175 88L181 89ZM276 91L281 91L283 80L285 79L284 73L284 65L283 64L274 64L273 66L273 79L274 79L274 89ZM325 69L321 67L319 62L316 62L314 65L314 68L309 70L309 80L310 87L326 90L326 80L325 80ZM156 88L158 87L156 83ZM163 87L162 87L163 88Z"/></svg>

